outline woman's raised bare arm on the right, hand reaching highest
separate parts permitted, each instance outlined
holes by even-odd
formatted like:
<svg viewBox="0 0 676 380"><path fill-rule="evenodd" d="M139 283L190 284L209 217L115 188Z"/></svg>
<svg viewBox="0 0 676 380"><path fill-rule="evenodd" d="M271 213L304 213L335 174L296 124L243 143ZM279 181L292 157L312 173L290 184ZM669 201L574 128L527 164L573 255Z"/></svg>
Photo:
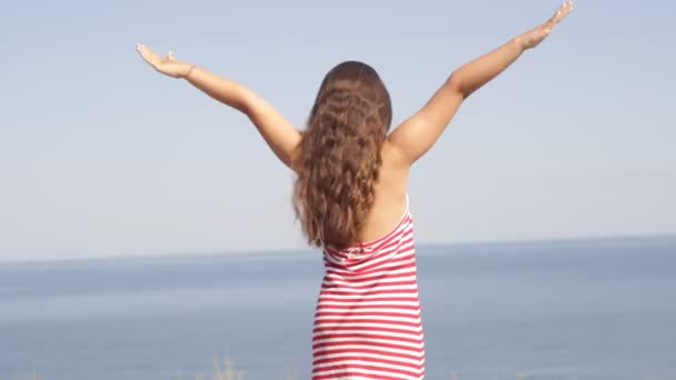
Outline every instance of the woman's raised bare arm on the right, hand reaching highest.
<svg viewBox="0 0 676 380"><path fill-rule="evenodd" d="M547 22L453 72L418 112L389 134L388 141L401 163L410 166L425 154L467 97L507 69L525 50L538 46L571 10L573 2L568 1Z"/></svg>

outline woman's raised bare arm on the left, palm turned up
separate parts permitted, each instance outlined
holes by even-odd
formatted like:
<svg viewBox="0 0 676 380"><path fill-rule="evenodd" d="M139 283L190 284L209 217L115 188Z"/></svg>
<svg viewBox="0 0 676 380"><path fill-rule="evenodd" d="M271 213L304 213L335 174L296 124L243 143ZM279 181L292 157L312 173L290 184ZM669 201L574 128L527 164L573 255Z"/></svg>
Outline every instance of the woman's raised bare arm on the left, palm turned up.
<svg viewBox="0 0 676 380"><path fill-rule="evenodd" d="M211 98L249 117L275 154L290 168L291 154L301 140L300 131L264 98L230 79L178 61L172 53L161 57L145 44L137 44L137 50L157 71L183 78Z"/></svg>

